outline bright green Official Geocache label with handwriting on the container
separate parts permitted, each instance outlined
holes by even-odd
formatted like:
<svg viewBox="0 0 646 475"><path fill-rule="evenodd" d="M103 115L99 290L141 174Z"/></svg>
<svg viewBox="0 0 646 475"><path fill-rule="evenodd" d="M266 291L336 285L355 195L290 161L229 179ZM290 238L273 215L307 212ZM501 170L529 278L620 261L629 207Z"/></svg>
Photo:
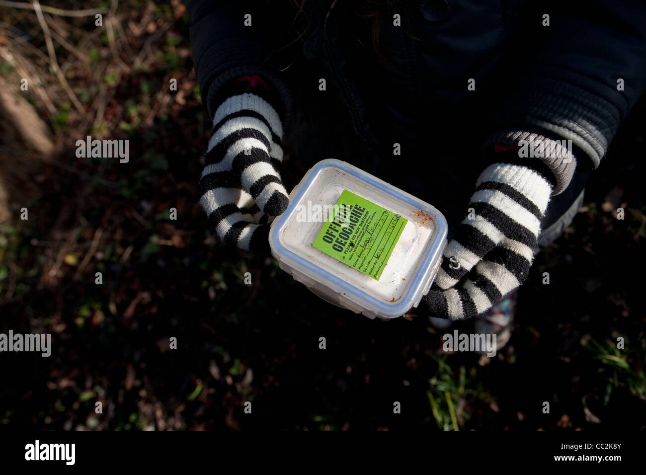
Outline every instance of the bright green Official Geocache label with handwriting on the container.
<svg viewBox="0 0 646 475"><path fill-rule="evenodd" d="M379 280L408 220L343 190L312 246Z"/></svg>

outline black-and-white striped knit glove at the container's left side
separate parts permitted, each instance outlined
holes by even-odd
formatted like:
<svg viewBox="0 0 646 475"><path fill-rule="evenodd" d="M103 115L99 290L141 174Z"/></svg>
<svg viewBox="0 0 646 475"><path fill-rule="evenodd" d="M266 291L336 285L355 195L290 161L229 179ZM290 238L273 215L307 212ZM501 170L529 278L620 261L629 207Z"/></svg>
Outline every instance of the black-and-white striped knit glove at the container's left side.
<svg viewBox="0 0 646 475"><path fill-rule="evenodd" d="M216 110L200 204L225 243L269 248L267 223L289 203L279 173L281 138L278 113L256 94L237 94Z"/></svg>

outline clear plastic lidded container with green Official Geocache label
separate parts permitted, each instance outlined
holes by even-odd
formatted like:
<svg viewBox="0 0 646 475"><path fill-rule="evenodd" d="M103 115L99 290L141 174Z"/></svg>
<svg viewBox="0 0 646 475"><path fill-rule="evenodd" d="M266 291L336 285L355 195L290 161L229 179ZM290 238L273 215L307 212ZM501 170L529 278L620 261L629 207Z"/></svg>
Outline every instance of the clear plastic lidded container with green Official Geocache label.
<svg viewBox="0 0 646 475"><path fill-rule="evenodd" d="M271 224L280 268L332 304L371 319L417 307L446 244L433 206L340 160L314 165Z"/></svg>

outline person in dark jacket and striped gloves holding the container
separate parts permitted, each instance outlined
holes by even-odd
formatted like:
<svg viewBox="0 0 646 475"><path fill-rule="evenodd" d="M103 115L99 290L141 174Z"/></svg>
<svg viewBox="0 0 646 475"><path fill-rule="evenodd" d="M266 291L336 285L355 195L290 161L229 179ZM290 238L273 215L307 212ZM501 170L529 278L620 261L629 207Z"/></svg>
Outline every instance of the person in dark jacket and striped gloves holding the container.
<svg viewBox="0 0 646 475"><path fill-rule="evenodd" d="M646 83L643 3L536 4L189 1L218 235L267 249L285 146L303 170L340 158L446 216L418 310L505 330Z"/></svg>

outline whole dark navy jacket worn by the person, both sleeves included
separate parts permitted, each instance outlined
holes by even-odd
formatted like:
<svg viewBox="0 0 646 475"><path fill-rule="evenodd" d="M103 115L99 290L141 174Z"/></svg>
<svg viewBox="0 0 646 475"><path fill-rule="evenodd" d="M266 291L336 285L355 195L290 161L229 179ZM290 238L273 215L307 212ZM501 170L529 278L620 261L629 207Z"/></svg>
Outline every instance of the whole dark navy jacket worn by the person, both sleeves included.
<svg viewBox="0 0 646 475"><path fill-rule="evenodd" d="M380 10L377 51L371 19L353 13L356 3L307 0L295 20L288 0L189 0L193 58L209 114L224 83L257 74L280 95L287 123L314 103L335 117L327 140L351 134L377 155L392 156L399 143L402 156L417 160L478 164L474 155L491 143L572 140L576 160L541 158L557 194L575 167L598 167L646 85L643 1L388 2ZM401 26L393 24L395 15ZM301 19L307 30L293 41ZM329 96L319 90L320 78ZM475 90L468 89L471 79ZM484 165L466 168L477 176Z"/></svg>

